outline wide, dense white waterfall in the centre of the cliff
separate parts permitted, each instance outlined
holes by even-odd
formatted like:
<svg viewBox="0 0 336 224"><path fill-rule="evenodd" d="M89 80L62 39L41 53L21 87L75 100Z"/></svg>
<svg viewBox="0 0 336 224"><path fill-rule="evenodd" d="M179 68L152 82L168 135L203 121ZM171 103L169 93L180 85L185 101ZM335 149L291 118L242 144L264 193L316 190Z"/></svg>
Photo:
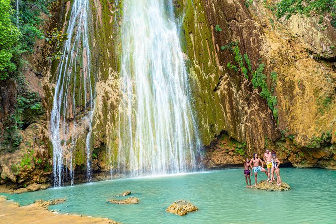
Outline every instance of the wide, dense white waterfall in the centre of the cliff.
<svg viewBox="0 0 336 224"><path fill-rule="evenodd" d="M118 172L192 171L200 142L172 1L123 4Z"/></svg>

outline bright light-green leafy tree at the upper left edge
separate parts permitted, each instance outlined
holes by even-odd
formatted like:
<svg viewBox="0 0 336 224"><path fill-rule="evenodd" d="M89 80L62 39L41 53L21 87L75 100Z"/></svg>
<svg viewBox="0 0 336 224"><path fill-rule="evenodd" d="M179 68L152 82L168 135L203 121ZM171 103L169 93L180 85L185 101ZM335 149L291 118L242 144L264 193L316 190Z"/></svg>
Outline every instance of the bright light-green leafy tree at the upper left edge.
<svg viewBox="0 0 336 224"><path fill-rule="evenodd" d="M16 70L12 57L20 32L11 21L11 0L0 0L0 15L0 80L4 80Z"/></svg>

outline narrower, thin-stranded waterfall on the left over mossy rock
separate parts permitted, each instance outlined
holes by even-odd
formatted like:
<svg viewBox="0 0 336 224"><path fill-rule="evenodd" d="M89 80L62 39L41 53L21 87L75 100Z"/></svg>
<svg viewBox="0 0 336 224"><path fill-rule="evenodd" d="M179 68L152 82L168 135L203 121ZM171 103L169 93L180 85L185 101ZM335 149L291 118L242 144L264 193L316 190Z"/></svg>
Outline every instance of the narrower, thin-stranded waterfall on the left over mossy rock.
<svg viewBox="0 0 336 224"><path fill-rule="evenodd" d="M77 142L79 119L88 129L85 147L87 179L91 181L90 139L94 107L91 79L93 81L94 77L90 72L88 12L88 0L73 1L67 29L68 40L65 42L63 51L64 58L61 59L58 67L50 121L54 186L62 186L64 180L68 178L66 175L68 170L64 171L64 163L69 166L71 184L73 184L73 152ZM79 115L82 117L79 118ZM69 139L71 143L65 144Z"/></svg>

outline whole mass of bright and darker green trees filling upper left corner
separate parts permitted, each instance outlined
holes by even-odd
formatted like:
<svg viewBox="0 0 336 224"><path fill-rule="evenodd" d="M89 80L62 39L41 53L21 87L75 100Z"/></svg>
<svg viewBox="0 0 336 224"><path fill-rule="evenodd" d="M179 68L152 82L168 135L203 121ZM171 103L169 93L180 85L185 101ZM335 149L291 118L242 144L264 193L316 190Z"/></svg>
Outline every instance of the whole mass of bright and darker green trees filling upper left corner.
<svg viewBox="0 0 336 224"><path fill-rule="evenodd" d="M36 39L44 38L39 29L43 21L41 13L49 16L48 7L54 1L19 1L18 23L12 8L15 4L11 6L11 0L0 0L0 80L11 77L22 64L21 55L33 53Z"/></svg>

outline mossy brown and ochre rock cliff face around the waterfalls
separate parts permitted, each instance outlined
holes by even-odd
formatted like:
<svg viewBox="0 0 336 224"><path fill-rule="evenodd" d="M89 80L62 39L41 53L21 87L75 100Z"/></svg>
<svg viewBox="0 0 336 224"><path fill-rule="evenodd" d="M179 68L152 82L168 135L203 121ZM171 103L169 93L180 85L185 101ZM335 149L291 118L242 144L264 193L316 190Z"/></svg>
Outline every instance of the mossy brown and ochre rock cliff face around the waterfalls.
<svg viewBox="0 0 336 224"><path fill-rule="evenodd" d="M248 8L243 0L173 3L181 22L205 166L238 165L253 152L261 154L269 148L295 167L336 169L336 32L328 15L279 20L272 11L275 2L268 0L255 1ZM91 155L96 179L110 176L117 163L122 4L90 1L95 76ZM45 31L66 29L71 2L60 0L56 5L53 17L46 18ZM50 49L38 41L36 54L25 56L30 63L22 69L26 87L39 93L44 114L28 113L26 120L34 117L29 125L13 132L22 138L17 150L3 146L1 184L23 187L50 181L48 130L57 76L57 61L46 60ZM19 86L14 79L0 82L3 141L6 121L16 113ZM85 124L79 130L74 159L78 181L86 169L83 144L88 132Z"/></svg>

